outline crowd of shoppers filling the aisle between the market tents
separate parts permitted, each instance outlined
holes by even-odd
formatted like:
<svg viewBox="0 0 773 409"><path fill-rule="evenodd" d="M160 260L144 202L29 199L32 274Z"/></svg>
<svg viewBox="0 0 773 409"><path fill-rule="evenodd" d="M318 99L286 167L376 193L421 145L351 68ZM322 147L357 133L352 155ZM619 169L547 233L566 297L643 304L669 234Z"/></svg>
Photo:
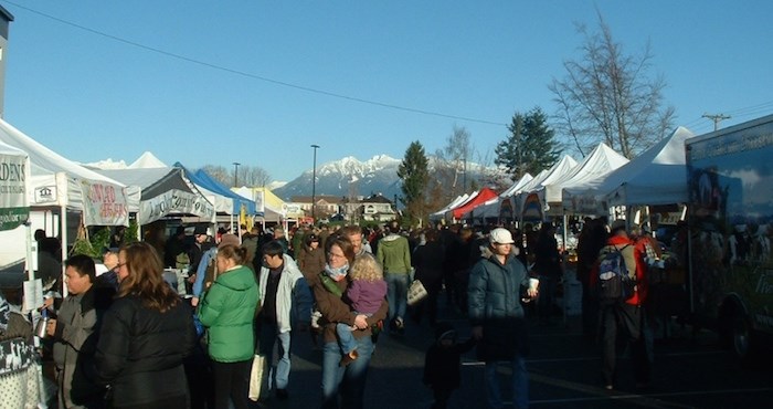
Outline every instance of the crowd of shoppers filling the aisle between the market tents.
<svg viewBox="0 0 773 409"><path fill-rule="evenodd" d="M629 235L624 221L584 221L576 266L583 326L602 346L607 389L617 376L618 337L632 346L637 386L649 382L645 260L658 251L646 232ZM600 302L600 259L611 252L621 254L635 293ZM280 227L243 228L241 237L210 237L197 227L192 238L181 228L163 245L125 243L105 249L100 264L77 254L64 265L67 296L42 306L53 316L44 345L53 353L60 408L246 408L256 357L257 398L288 399L293 336L307 331L322 354L320 406L362 408L379 334L405 336L406 325L424 318L436 334L423 377L433 408L446 407L459 387L459 357L472 348L486 364L488 406L504 405L497 368L507 364L513 405L526 408L526 316L533 312L538 325L551 325L564 277L549 222L525 232L466 226L407 232L396 221L375 229L306 226L289 237ZM165 268L187 270L186 296L165 281ZM409 308L414 280L427 295ZM468 317L469 339L438 319L443 301Z"/></svg>

